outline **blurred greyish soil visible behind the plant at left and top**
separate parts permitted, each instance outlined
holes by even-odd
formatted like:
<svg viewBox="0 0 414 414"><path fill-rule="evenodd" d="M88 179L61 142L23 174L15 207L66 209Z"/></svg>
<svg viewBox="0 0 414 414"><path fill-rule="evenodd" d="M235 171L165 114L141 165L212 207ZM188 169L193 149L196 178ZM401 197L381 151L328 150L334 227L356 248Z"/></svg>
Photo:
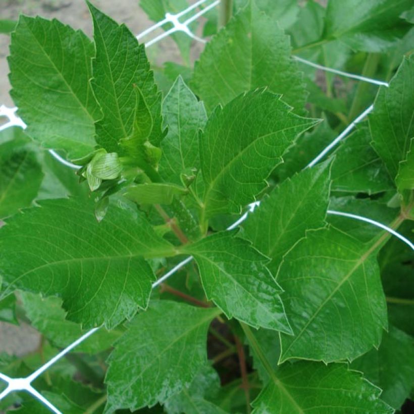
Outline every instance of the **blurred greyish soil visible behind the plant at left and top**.
<svg viewBox="0 0 414 414"><path fill-rule="evenodd" d="M119 23L125 23L134 34L138 34L150 27L151 22L139 7L139 0L92 0L100 10L111 16ZM195 0L189 2L195 3ZM0 0L0 19L18 20L19 14L56 18L75 29L83 30L92 36L92 22L84 0ZM162 33L162 29L152 32L144 40ZM13 107L9 95L10 83L8 79L10 36L0 34L0 105ZM195 43L192 48L192 60L196 59L202 45ZM148 58L151 64L162 65L164 62L182 63L175 42L166 37L148 48ZM0 120L0 124L3 123ZM38 348L40 335L30 326L22 323L20 326L0 322L0 353L25 355Z"/></svg>

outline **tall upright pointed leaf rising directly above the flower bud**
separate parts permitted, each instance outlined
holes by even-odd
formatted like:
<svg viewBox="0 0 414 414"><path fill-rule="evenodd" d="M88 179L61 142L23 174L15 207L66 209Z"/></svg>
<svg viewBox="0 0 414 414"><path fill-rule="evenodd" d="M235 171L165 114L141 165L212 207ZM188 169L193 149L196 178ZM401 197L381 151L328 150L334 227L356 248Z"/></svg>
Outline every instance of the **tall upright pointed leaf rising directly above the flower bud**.
<svg viewBox="0 0 414 414"><path fill-rule="evenodd" d="M153 126L148 140L158 145L164 137L162 96L149 69L144 45L138 43L124 24L119 25L90 3L88 7L96 44L92 86L103 114L96 123L96 142L108 152L122 153L119 142L133 133L138 116L136 86L152 116Z"/></svg>

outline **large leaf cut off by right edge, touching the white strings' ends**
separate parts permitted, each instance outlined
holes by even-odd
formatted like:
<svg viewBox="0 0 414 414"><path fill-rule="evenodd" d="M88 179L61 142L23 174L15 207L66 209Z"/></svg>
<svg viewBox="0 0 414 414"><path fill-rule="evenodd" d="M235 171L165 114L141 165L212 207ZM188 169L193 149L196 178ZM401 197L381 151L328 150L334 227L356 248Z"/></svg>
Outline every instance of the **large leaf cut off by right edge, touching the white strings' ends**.
<svg viewBox="0 0 414 414"><path fill-rule="evenodd" d="M390 86L381 86L369 115L372 145L394 180L414 137L414 57L404 58Z"/></svg>

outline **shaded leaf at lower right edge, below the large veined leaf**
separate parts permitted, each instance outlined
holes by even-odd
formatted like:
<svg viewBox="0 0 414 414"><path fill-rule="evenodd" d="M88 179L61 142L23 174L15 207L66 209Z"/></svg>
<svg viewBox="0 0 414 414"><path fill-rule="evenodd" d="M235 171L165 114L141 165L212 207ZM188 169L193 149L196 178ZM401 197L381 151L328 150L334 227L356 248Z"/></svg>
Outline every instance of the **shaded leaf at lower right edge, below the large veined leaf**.
<svg viewBox="0 0 414 414"><path fill-rule="evenodd" d="M379 349L356 359L351 367L380 387L381 399L398 410L414 386L414 339L391 327Z"/></svg>

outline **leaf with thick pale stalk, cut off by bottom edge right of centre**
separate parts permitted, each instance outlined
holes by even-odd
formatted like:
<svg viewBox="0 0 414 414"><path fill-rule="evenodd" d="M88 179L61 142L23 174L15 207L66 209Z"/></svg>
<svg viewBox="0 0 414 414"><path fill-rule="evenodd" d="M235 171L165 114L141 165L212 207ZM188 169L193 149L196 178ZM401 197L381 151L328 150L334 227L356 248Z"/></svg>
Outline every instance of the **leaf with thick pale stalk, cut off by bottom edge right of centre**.
<svg viewBox="0 0 414 414"><path fill-rule="evenodd" d="M266 371L267 374L265 388L251 404L253 414L393 412L390 406L379 399L381 390L364 380L360 373L348 370L346 364L326 366L310 361L295 361L278 366L279 349L277 344L275 346L275 337L270 336L271 332L262 329L253 332L245 326L243 330L255 365L260 372Z"/></svg>

